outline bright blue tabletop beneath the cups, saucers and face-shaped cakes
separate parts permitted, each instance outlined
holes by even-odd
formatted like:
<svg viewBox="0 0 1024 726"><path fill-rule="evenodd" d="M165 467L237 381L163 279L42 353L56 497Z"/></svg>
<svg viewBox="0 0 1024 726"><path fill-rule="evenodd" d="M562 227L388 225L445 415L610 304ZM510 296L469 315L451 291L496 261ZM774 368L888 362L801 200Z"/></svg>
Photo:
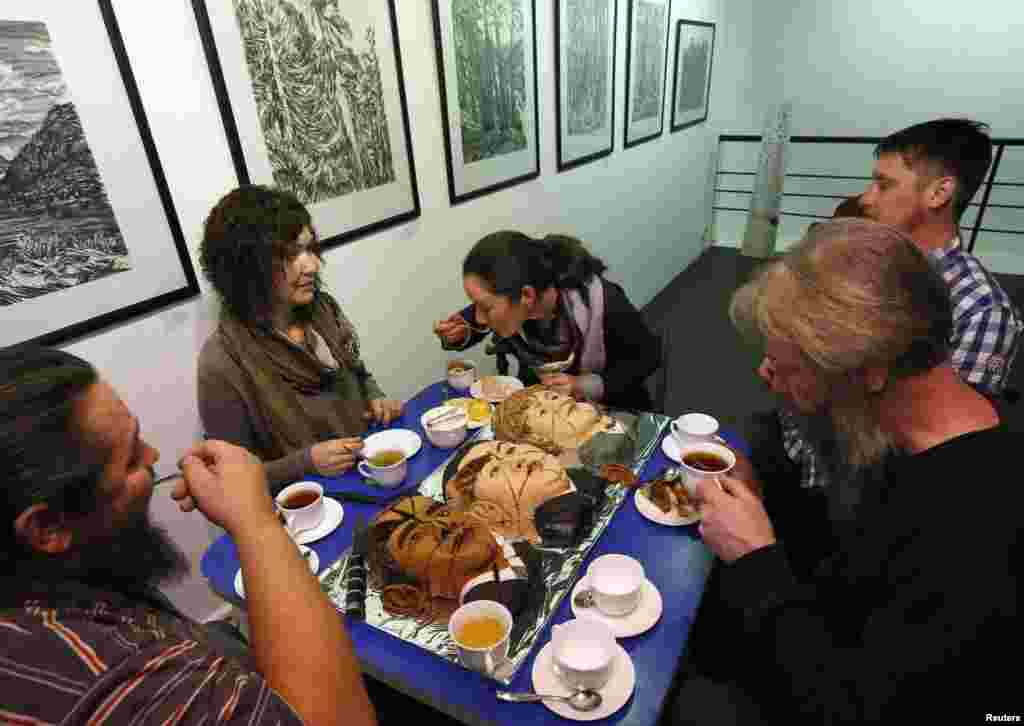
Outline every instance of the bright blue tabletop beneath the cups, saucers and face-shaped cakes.
<svg viewBox="0 0 1024 726"><path fill-rule="evenodd" d="M451 450L435 449L420 426L420 416L447 397L444 384L424 389L406 404L401 420L392 426L408 428L423 436L423 450L410 461L409 478L399 492L416 488L451 455ZM745 445L729 432L725 439L745 451ZM672 462L657 447L641 472L650 478ZM329 492L368 493L361 478L352 472L336 478L310 477ZM380 489L373 489L379 494ZM395 494L388 497L389 501ZM384 500L382 500L383 503ZM342 525L314 543L324 568L351 546L352 526L357 517L368 519L382 504L345 503ZM610 525L591 550L587 562L609 552L628 554L641 560L647 578L657 586L665 602L662 620L651 630L634 638L621 640L636 668L637 683L633 697L615 715L602 723L623 726L651 726L658 716L672 684L680 656L686 648L690 626L696 616L705 583L711 571L712 554L703 546L696 526L667 527L655 524L637 512L633 497L627 498ZM586 564L581 571L586 569ZM230 538L222 537L203 557L202 571L210 586L225 599L245 606L234 593L233 579L239 568L238 551ZM563 599L551 623L572 617L569 598ZM467 724L565 724L565 720L540 703L506 703L494 696L497 684L482 676L443 660L426 650L398 640L365 623L348 624L349 633L362 667L368 674L410 696L429 703ZM551 624L538 638L534 652L523 663L512 690L532 690L530 673L534 658L551 639Z"/></svg>

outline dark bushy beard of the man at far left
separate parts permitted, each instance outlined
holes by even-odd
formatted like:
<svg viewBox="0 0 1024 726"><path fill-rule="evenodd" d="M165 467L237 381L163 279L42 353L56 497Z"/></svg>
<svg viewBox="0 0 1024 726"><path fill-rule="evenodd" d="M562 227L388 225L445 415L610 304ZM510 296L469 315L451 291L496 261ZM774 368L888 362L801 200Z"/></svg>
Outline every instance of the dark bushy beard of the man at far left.
<svg viewBox="0 0 1024 726"><path fill-rule="evenodd" d="M179 581L189 565L167 531L143 514L66 555L32 556L18 569L30 579L78 580L125 592Z"/></svg>

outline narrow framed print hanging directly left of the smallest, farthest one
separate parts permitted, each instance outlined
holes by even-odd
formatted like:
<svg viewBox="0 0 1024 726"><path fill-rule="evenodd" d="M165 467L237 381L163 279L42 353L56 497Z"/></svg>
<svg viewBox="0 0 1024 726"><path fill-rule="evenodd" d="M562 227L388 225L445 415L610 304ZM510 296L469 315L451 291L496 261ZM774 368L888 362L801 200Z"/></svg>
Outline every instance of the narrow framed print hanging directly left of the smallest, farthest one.
<svg viewBox="0 0 1024 726"><path fill-rule="evenodd" d="M627 148L662 135L671 0L629 0L626 27Z"/></svg>

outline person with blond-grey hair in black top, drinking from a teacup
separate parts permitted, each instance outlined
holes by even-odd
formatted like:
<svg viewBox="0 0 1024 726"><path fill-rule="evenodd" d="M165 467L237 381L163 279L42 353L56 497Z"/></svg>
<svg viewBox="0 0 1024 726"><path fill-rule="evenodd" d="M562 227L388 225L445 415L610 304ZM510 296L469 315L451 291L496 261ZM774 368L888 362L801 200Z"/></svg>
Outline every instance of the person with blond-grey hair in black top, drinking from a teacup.
<svg viewBox="0 0 1024 726"><path fill-rule="evenodd" d="M698 485L739 624L719 634L741 653L720 701L773 723L1008 713L1016 690L993 654L1018 642L1021 517L1000 484L1020 443L949 364L942 277L893 227L827 222L742 288L732 314L762 338L784 403L830 428L845 466L826 496L845 516L834 554L801 579L754 482ZM684 683L681 714L706 680ZM707 690L703 714L681 721L722 723Z"/></svg>

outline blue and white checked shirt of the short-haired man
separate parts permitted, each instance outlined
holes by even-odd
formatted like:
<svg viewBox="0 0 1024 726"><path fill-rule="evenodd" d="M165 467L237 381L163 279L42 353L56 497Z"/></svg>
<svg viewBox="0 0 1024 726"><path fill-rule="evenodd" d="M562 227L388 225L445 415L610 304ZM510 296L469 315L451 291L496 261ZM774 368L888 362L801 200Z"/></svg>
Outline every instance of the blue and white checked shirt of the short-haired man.
<svg viewBox="0 0 1024 726"><path fill-rule="evenodd" d="M1024 328L1021 313L995 277L974 255L964 251L958 237L928 256L949 286L953 302L950 362L979 393L998 396L1017 354ZM817 454L804 440L793 414L780 409L779 422L785 453L800 464L801 485L824 486L827 477Z"/></svg>

